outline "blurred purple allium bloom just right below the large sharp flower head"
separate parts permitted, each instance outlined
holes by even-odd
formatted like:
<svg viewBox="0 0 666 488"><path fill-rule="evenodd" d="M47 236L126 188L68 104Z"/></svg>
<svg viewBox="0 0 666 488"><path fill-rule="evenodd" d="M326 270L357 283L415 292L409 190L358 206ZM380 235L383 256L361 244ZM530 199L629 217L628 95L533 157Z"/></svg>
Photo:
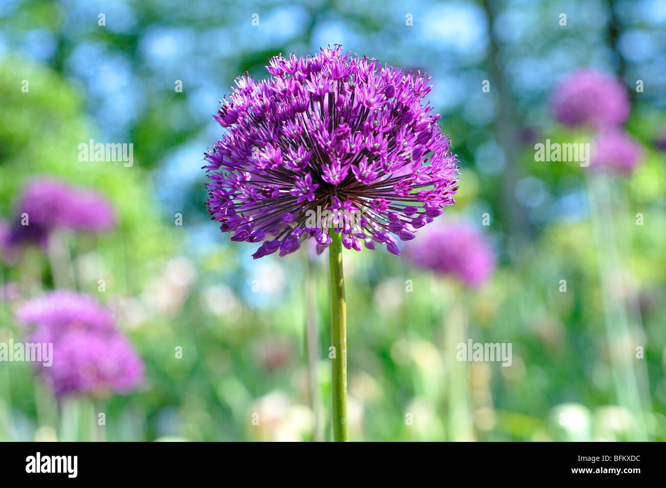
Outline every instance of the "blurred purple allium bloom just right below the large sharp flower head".
<svg viewBox="0 0 666 488"><path fill-rule="evenodd" d="M495 253L486 236L464 222L436 222L420 240L405 246L416 266L452 275L468 286L483 284L496 266Z"/></svg>

